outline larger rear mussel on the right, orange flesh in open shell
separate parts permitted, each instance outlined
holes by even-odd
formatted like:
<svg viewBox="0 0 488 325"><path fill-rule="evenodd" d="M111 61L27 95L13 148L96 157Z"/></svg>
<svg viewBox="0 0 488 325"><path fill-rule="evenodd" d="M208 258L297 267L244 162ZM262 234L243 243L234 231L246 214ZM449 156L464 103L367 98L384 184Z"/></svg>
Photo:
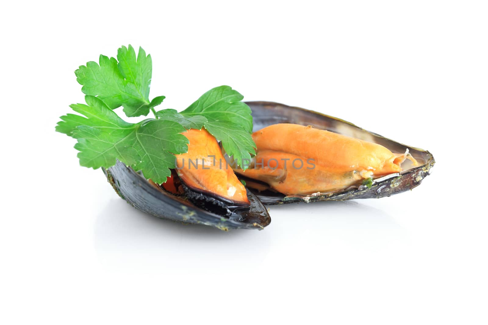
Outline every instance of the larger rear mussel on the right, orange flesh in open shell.
<svg viewBox="0 0 488 325"><path fill-rule="evenodd" d="M247 104L257 153L249 169L236 172L264 204L390 196L418 186L435 162L427 151L332 116L272 102Z"/></svg>

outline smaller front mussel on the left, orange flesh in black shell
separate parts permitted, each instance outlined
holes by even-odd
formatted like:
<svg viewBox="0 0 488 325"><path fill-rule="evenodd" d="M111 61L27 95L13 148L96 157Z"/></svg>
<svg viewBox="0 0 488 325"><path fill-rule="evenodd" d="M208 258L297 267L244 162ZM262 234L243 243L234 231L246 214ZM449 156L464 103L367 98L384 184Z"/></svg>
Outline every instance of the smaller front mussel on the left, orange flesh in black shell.
<svg viewBox="0 0 488 325"><path fill-rule="evenodd" d="M184 132L188 152L176 155L176 168L156 184L121 162L105 171L114 189L136 208L160 218L219 229L263 229L270 217L231 168L215 137L205 129ZM211 159L213 158L213 159Z"/></svg>

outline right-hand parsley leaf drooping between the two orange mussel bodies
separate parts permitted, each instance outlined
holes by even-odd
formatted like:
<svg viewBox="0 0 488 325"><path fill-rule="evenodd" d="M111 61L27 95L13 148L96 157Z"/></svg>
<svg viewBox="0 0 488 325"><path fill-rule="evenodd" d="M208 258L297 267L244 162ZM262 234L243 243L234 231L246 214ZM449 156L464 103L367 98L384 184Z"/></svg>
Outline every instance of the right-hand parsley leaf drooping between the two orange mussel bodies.
<svg viewBox="0 0 488 325"><path fill-rule="evenodd" d="M180 113L188 118L205 117L205 129L222 141L225 152L246 169L256 145L251 137L251 109L241 101L243 98L229 86L215 87Z"/></svg>

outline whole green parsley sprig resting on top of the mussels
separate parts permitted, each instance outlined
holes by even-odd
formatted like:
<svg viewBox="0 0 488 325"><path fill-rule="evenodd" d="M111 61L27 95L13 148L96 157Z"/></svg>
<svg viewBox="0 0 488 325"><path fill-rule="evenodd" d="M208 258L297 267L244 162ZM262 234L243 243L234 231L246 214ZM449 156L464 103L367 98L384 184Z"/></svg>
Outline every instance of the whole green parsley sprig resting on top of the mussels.
<svg viewBox="0 0 488 325"><path fill-rule="evenodd" d="M56 131L77 139L81 166L108 168L120 160L146 178L163 183L175 167L174 154L188 150L187 129L205 129L222 141L229 156L242 166L254 154L252 116L244 98L229 86L213 88L188 108L159 112L155 106L164 96L149 100L152 59L142 48L122 46L117 59L101 55L99 63L87 62L75 71L86 104L70 105L77 114L61 116ZM148 115L139 123L128 123L113 111L123 107L129 117Z"/></svg>

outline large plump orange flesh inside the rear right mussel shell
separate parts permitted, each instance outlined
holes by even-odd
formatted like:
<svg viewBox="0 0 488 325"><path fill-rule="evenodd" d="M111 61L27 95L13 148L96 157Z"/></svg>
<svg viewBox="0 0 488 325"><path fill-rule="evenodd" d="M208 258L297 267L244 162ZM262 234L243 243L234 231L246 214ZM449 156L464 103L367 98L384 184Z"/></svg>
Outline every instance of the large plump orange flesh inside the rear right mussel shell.
<svg viewBox="0 0 488 325"><path fill-rule="evenodd" d="M345 189L369 178L402 171L408 153L312 126L279 123L252 134L257 146L250 168L239 174L263 181L285 195Z"/></svg>

